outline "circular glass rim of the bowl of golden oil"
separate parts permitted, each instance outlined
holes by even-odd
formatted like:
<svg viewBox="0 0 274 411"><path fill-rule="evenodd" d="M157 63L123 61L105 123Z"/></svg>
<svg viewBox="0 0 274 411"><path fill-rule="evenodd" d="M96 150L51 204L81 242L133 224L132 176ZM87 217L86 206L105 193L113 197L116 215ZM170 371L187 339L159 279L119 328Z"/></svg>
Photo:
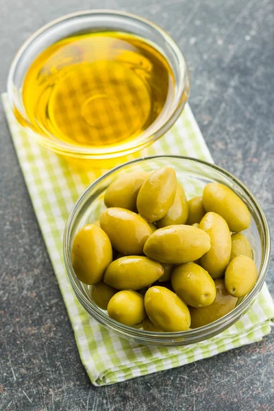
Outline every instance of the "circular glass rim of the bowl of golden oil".
<svg viewBox="0 0 274 411"><path fill-rule="evenodd" d="M48 29L51 27L58 25L59 23L62 23L64 21L69 21L73 18L77 17L82 17L82 16L95 16L95 15L101 15L101 16L106 16L106 15L113 15L113 16L122 16L125 18L130 18L132 20L138 21L139 23L142 23L144 25L148 25L151 27L151 29L154 29L155 32L158 32L164 40L166 40L166 43L169 45L171 50L173 51L174 55L179 61L179 66L182 71L182 67L184 67L184 77L180 79L179 84L177 84L178 91L175 93L175 96L173 99L176 97L178 102L173 108L173 111L169 113L169 115L166 118L166 121L164 123L160 124L152 133L150 133L148 136L145 136L142 140L137 142L137 138L140 138L142 134L145 134L145 132L142 132L141 134L138 134L136 138L131 144L125 147L125 149L117 149L119 147L119 144L113 145L113 147L110 146L110 151L108 151L108 146L98 146L101 147L100 150L96 146L76 146L72 145L68 142L63 142L62 140L59 140L58 138L55 138L54 140L50 140L47 136L44 136L43 134L40 134L39 132L34 129L32 126L32 123L29 121L27 114L22 113L21 110L19 110L18 103L16 102L16 98L14 97L14 73L16 71L16 68L18 64L21 61L21 58L27 48L34 42L39 36L41 36L44 32L47 32ZM157 46L157 45L156 45ZM166 58L166 60L169 62L169 59ZM185 83L185 84L184 84ZM55 151L56 153L62 154L62 155L67 155L75 158L85 158L85 159L94 159L94 160L105 160L108 158L116 158L116 157L121 157L123 155L128 155L130 153L134 153L135 151L139 151L141 149L144 149L145 147L151 145L155 140L158 140L164 133L166 133L171 126L175 123L179 115L182 113L182 110L184 109L184 105L186 101L188 100L188 95L190 92L190 73L188 69L188 64L186 62L186 58L184 56L184 53L179 49L177 43L173 38L161 27L156 25L155 23L149 21L147 18L143 18L141 16L138 16L136 14L132 14L129 12L123 12L123 11L118 11L118 10L110 10L110 9L95 9L95 10L84 10L80 12L73 12L70 14L65 14L64 16L61 16L59 18L55 18L53 21L50 21L49 23L43 25L40 27L40 29L36 30L25 42L23 42L23 45L18 49L16 52L14 59L12 60L12 63L10 65L10 71L8 73L8 82L7 82L7 91L8 91L8 99L10 101L10 105L13 108L13 110L16 110L16 113L20 118L23 119L24 126L29 129L29 133L36 138L36 140L43 146ZM172 102L173 103L173 102ZM160 114L161 115L161 114ZM160 116L158 117L160 119ZM156 119L157 121L157 119ZM54 137L54 136L53 136ZM132 143L135 141L135 144L133 145Z"/></svg>

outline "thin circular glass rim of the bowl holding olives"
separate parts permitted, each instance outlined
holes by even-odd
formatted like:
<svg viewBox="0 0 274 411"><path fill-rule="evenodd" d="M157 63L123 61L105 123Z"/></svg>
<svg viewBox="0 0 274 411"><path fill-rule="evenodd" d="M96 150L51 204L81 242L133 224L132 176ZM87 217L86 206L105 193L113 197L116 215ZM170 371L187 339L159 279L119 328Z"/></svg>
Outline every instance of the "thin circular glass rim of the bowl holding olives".
<svg viewBox="0 0 274 411"><path fill-rule="evenodd" d="M253 207L256 209L256 212L258 213L260 220L262 221L262 229L263 229L263 234L265 238L265 249L262 251L262 263L261 263L261 269L260 269L260 277L258 278L258 281L256 282L256 285L253 287L251 292L244 297L244 299L236 306L231 312L228 314L225 314L225 316L221 317L221 319L218 319L210 324L203 325L202 327L198 327L195 329L189 329L187 331L182 331L182 332L164 332L164 333L158 333L158 332L150 332L150 331L145 331L142 329L136 329L134 327L129 327L127 325L123 325L113 319L111 319L108 314L105 314L102 312L99 308L97 308L95 305L93 306L92 303L90 303L90 300L86 298L85 295L80 292L78 284L82 284L79 282L79 279L77 279L74 271L73 271L73 266L71 264L71 258L70 258L70 250L69 250L69 240L70 240L70 234L71 234L71 227L73 225L73 221L75 219L75 216L79 213L79 211L82 208L82 203L86 199L88 199L90 192L99 184L101 183L104 179L109 177L110 175L116 173L116 171L119 171L123 169L126 166L136 164L138 162L142 162L145 160L157 160L161 158L171 158L171 159L179 159L179 160L188 160L190 162L195 162L204 166L208 166L211 169L214 169L214 171L218 171L219 173L225 175L225 177L228 177L231 179L237 186L240 187L241 190L245 192L249 200L251 201ZM63 253L64 253L64 263L66 266L66 271L69 275L69 280L71 282L71 285L73 287L73 290L75 292L75 295L79 302L82 304L82 306L85 308L85 310L90 314L93 318L95 318L99 323L105 325L106 327L109 327L110 329L117 330L123 334L130 334L132 338L141 338L142 340L149 340L153 342L153 340L158 340L160 343L164 343L165 341L173 341L176 340L177 338L180 338L180 340L184 340L186 338L195 338L198 336L201 336L203 334L206 339L212 335L212 332L214 332L214 335L217 334L217 330L223 331L223 326L225 324L232 325L234 322L234 319L238 319L240 314L245 312L247 308L249 308L251 302L253 299L258 295L258 292L262 289L262 286L264 284L264 280L266 277L267 269L269 267L269 261L270 261L270 256L271 256L271 236L270 236L270 230L269 230L269 225L266 220L266 216L264 215L264 212L256 200L256 197L253 196L251 191L244 185L240 180L235 177L232 173L229 173L229 171L226 171L220 166L216 166L215 164L212 164L210 162L206 162L204 160L199 160L197 158L191 158L187 156L182 156L182 155L152 155L148 157L142 157L138 158L135 160L131 160L129 162L125 162L119 166L114 167L108 173L105 173L101 177L95 180L95 182L92 182L88 188L84 191L84 193L79 197L77 202L75 203L75 206L71 210L71 213L69 214L69 219L66 222L66 226L64 229L64 237L63 237ZM225 327L225 328L227 328Z"/></svg>

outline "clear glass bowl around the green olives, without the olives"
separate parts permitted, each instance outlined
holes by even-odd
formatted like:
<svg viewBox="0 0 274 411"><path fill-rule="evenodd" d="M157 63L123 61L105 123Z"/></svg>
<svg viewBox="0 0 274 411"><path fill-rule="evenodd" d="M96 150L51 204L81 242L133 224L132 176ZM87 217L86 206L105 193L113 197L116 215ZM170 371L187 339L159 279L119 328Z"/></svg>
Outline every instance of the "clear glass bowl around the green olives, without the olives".
<svg viewBox="0 0 274 411"><path fill-rule="evenodd" d="M201 195L203 187L209 182L219 182L231 188L245 202L251 213L251 226L245 230L251 247L253 258L258 269L258 281L249 295L238 300L236 308L221 319L214 321L197 329L189 329L184 332L148 332L134 327L127 327L118 323L108 316L108 313L95 305L88 292L86 284L77 279L71 264L71 247L73 239L78 230L88 223L99 219L101 211L105 209L103 196L108 186L121 175L131 171L152 171L162 166L171 166L175 169L177 179L184 184L188 199ZM269 227L256 198L251 192L232 174L221 169L219 166L194 158L181 157L177 155L154 156L127 162L112 169L91 184L79 198L73 208L64 230L64 262L69 279L77 299L85 310L103 327L110 329L120 337L133 340L145 345L188 345L206 340L235 323L245 314L258 292L261 290L269 266L270 258L270 234Z"/></svg>

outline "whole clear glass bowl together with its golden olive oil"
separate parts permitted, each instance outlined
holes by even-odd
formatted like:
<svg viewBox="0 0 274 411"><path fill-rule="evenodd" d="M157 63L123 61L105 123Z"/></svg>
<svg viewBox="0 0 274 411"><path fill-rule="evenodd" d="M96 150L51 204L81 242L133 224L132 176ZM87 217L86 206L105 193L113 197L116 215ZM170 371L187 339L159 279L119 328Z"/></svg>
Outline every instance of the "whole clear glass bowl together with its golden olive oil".
<svg viewBox="0 0 274 411"><path fill-rule="evenodd" d="M106 160L139 151L188 99L184 55L160 27L124 12L59 18L16 54L8 96L28 134L56 153Z"/></svg>

